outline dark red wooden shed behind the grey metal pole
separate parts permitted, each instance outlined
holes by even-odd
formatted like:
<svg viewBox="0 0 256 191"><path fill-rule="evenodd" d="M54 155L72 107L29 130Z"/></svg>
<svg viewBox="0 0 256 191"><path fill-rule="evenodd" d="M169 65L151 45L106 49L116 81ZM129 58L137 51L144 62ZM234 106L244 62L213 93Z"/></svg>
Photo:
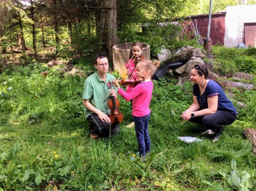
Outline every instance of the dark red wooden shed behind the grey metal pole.
<svg viewBox="0 0 256 191"><path fill-rule="evenodd" d="M216 43L219 45L224 45L225 17L226 12L211 14L211 28L209 37L212 40L212 45L215 45ZM209 14L185 17L185 34L191 34L191 37L194 38L196 36L195 32L198 32L201 37L206 37L208 30L208 20Z"/></svg>

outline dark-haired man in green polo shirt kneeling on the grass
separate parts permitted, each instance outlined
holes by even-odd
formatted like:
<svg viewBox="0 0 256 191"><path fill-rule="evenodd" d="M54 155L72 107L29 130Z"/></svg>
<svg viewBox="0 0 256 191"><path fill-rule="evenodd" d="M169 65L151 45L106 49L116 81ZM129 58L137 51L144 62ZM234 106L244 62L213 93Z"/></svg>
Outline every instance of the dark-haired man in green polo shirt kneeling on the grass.
<svg viewBox="0 0 256 191"><path fill-rule="evenodd" d="M118 122L110 123L110 109L108 100L116 95L116 88L110 92L110 96L103 103L109 93L107 83L112 82L115 77L108 72L108 58L104 54L97 54L94 58L94 66L97 70L84 82L83 105L84 116L89 122L90 137L109 136L120 132Z"/></svg>

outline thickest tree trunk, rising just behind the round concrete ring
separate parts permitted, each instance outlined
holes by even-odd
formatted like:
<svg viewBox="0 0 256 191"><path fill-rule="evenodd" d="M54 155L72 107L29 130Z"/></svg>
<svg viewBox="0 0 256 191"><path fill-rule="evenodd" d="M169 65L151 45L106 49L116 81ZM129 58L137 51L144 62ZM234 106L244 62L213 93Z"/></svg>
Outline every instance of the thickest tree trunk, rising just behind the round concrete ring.
<svg viewBox="0 0 256 191"><path fill-rule="evenodd" d="M102 7L116 7L116 0L103 0ZM116 45L117 40L117 27L116 27L116 9L101 9L100 16L100 31L101 41L103 42L103 49L108 58L112 60L112 46Z"/></svg>

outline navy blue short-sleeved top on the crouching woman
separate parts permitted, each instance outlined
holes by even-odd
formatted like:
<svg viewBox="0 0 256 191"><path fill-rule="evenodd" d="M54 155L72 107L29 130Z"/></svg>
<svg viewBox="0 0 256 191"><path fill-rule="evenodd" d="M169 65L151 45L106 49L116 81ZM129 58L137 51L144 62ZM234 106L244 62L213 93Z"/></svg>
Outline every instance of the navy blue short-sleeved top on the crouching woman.
<svg viewBox="0 0 256 191"><path fill-rule="evenodd" d="M197 98L197 101L200 105L200 110L208 108L207 98L217 95L218 96L217 110L225 110L225 111L230 111L234 115L237 114L237 110L234 108L234 104L227 98L222 87L217 82L211 79L207 83L204 93L202 95L200 94L198 84L194 84L193 95L196 96Z"/></svg>

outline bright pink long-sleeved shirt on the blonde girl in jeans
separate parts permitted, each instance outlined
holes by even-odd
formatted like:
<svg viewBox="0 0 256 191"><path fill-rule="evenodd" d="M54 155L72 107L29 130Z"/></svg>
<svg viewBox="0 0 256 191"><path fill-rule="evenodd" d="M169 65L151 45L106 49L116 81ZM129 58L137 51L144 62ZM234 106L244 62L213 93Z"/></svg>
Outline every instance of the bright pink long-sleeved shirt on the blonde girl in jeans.
<svg viewBox="0 0 256 191"><path fill-rule="evenodd" d="M122 88L118 89L118 94L122 96L126 101L132 99L132 112L131 114L135 117L143 117L148 115L151 110L149 109L149 103L152 97L153 82L143 82L138 84L127 93Z"/></svg>

